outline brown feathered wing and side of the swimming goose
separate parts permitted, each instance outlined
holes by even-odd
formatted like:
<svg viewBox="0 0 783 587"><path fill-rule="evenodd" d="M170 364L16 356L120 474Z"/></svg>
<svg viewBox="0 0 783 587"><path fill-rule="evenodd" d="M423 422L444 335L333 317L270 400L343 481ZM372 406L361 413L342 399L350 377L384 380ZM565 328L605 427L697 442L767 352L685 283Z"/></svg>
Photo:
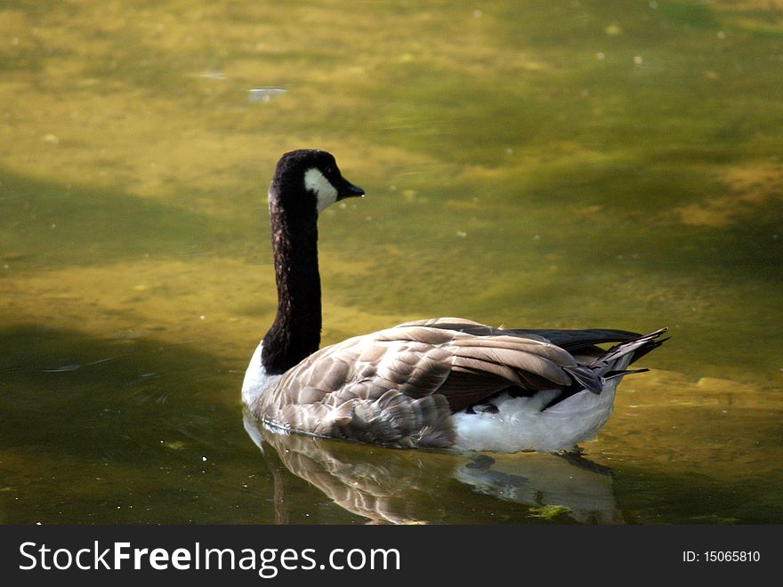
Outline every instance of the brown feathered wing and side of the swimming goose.
<svg viewBox="0 0 783 587"><path fill-rule="evenodd" d="M568 369L577 363L567 351L478 334L488 326L461 323L473 332L409 324L319 350L282 376L260 411L278 425L320 436L449 446L452 413L509 386L573 382Z"/></svg>

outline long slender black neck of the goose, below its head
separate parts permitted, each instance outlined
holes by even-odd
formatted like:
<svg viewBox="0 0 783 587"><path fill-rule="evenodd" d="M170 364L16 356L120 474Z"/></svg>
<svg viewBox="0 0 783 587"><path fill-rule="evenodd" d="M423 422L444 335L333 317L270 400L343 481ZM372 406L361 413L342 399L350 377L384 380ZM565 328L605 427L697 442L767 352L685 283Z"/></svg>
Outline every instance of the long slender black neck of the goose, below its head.
<svg viewBox="0 0 783 587"><path fill-rule="evenodd" d="M268 374L282 374L319 348L318 213L314 205L287 213L270 194L270 215L278 315L263 337L261 361Z"/></svg>

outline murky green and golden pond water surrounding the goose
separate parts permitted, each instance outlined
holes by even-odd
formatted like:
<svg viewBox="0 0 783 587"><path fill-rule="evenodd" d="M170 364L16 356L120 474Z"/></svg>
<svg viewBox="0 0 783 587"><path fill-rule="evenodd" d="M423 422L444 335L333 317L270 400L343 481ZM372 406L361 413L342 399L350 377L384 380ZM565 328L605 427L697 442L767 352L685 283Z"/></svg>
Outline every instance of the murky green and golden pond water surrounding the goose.
<svg viewBox="0 0 783 587"><path fill-rule="evenodd" d="M781 70L766 0L0 3L0 522L783 522ZM367 191L320 220L325 343L672 340L579 455L263 440L296 148Z"/></svg>

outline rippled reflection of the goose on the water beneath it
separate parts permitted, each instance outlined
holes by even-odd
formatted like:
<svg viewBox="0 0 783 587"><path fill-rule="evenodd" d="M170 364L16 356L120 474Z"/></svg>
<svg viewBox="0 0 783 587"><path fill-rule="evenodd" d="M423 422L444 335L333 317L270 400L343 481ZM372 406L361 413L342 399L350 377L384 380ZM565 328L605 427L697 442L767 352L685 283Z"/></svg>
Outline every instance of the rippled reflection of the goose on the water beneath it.
<svg viewBox="0 0 783 587"><path fill-rule="evenodd" d="M268 430L247 413L245 429L273 471L278 523L288 521L287 471L369 523L623 522L610 470L575 453L489 456L364 446ZM487 495L500 502L484 513Z"/></svg>

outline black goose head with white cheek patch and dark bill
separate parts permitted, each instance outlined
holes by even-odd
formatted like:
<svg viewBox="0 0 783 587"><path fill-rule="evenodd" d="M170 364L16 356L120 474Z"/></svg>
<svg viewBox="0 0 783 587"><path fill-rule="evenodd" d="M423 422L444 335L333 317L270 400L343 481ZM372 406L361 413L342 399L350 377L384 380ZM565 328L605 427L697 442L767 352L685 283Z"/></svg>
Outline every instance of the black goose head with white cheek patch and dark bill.
<svg viewBox="0 0 783 587"><path fill-rule="evenodd" d="M343 177L331 153L299 149L278 161L270 185L270 210L279 206L301 214L319 214L335 202L358 196L364 196L364 189Z"/></svg>

